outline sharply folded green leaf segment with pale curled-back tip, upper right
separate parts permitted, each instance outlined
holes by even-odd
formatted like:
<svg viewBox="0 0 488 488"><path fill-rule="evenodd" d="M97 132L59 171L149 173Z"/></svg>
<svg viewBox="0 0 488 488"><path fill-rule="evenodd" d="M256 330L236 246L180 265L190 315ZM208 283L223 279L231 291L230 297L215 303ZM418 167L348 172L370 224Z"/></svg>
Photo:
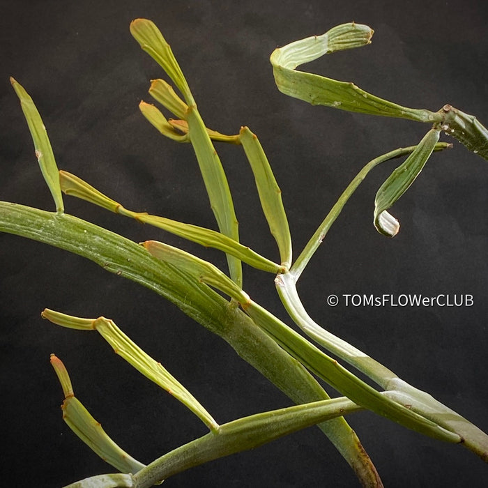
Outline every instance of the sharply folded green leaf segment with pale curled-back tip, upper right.
<svg viewBox="0 0 488 488"><path fill-rule="evenodd" d="M441 116L425 109L402 107L367 93L353 83L296 71L314 59L371 43L373 30L362 24L342 24L322 36L313 36L275 49L270 56L277 88L312 105L326 105L351 112L400 117L421 122L439 122Z"/></svg>

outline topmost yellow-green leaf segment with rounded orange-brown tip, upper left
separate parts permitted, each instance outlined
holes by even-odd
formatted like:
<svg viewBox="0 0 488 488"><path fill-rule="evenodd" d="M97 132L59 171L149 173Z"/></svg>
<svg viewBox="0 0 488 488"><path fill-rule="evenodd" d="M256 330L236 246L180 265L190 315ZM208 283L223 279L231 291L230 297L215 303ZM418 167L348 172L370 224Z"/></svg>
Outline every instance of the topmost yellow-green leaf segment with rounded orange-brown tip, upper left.
<svg viewBox="0 0 488 488"><path fill-rule="evenodd" d="M165 70L178 90L183 93L187 104L195 105L183 72L158 27L151 20L136 19L130 23L130 33L142 49Z"/></svg>

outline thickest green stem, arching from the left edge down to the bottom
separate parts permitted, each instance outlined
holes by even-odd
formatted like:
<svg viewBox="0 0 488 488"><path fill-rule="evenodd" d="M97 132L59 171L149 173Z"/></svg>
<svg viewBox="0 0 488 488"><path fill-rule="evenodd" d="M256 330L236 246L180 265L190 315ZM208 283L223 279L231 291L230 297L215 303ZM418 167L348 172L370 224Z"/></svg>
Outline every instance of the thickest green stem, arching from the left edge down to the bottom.
<svg viewBox="0 0 488 488"><path fill-rule="evenodd" d="M0 201L0 231L79 254L167 298L222 337L293 402L303 404L329 398L305 367L257 328L245 313L206 285L190 280L178 268L155 259L133 241L72 215L57 215L4 201ZM371 460L344 418L322 422L319 427L363 485L379 486Z"/></svg>

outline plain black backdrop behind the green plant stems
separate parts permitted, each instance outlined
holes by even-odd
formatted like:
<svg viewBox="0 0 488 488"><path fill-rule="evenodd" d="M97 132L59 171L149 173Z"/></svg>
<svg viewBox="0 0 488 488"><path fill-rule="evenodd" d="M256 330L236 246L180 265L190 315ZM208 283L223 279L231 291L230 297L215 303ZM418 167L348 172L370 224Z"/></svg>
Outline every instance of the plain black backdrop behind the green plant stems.
<svg viewBox="0 0 488 488"><path fill-rule="evenodd" d="M43 1L2 2L0 197L52 210L8 77L36 102L61 169L127 208L215 228L190 145L143 119L160 68L128 31L153 20L171 44L207 125L259 135L283 191L296 253L365 162L415 144L427 125L311 107L275 88L269 54L335 24L375 29L373 44L308 68L353 80L409 107L446 102L488 120L485 2L465 1ZM443 136L443 139L446 139ZM241 151L220 148L241 241L277 259ZM392 240L372 226L374 194L393 165L367 178L300 280L312 317L488 429L487 162L460 144L434 155L392 213ZM144 241L201 250L75 199L66 211ZM77 397L123 448L150 462L204 433L199 421L115 356L93 333L56 328L44 307L105 315L187 386L219 422L289 405L222 340L142 287L61 250L0 236L2 485L59 487L109 473L61 420L49 366L66 364ZM245 267L245 289L284 317L270 275ZM330 293L471 293L473 307L329 307ZM482 487L487 467L468 450L409 432L371 413L350 418L389 487ZM318 429L194 468L169 487L351 487L355 478Z"/></svg>

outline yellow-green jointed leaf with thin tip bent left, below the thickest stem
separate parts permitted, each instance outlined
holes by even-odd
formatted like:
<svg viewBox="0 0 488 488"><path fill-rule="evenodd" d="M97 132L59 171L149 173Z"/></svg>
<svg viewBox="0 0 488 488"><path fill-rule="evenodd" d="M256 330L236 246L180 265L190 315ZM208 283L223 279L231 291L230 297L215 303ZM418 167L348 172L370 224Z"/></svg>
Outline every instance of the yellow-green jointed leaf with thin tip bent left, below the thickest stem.
<svg viewBox="0 0 488 488"><path fill-rule="evenodd" d="M114 352L135 367L139 373L156 383L163 390L169 392L211 430L218 428L218 423L213 420L212 415L204 409L198 400L171 374L145 353L135 342L125 335L114 321L98 317L98 319L82 319L70 315L45 309L42 316L52 323L68 328L84 330L98 330L98 333L112 346Z"/></svg>

